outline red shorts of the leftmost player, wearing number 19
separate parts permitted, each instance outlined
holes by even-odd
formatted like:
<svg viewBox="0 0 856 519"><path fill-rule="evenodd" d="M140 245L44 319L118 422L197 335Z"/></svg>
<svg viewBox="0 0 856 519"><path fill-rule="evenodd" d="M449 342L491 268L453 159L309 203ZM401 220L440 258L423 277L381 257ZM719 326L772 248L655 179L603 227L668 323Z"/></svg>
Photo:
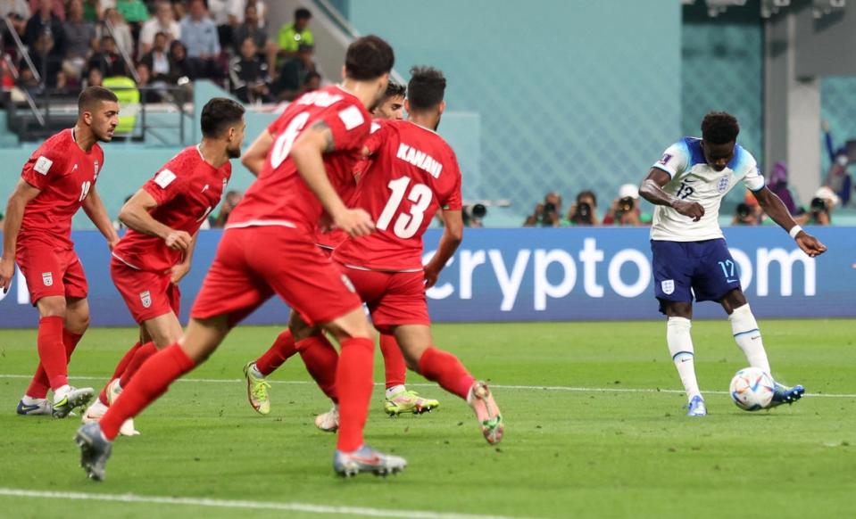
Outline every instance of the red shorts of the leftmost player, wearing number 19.
<svg viewBox="0 0 856 519"><path fill-rule="evenodd" d="M87 297L87 276L74 249L64 245L56 248L38 240L19 240L15 261L27 280L29 301L34 306L51 295Z"/></svg>

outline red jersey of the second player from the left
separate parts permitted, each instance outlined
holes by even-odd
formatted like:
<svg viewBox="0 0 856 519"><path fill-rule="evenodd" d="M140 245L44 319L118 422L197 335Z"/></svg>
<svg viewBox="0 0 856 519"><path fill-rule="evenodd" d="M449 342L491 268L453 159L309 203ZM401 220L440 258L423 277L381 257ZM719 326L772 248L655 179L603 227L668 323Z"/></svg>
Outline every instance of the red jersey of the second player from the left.
<svg viewBox="0 0 856 519"><path fill-rule="evenodd" d="M185 148L143 185L157 202L151 211L152 218L195 235L220 203L231 176L231 162L214 168L204 161L197 146ZM164 272L183 260L183 253L167 247L162 238L134 229L122 237L113 249L113 256L129 267L149 272Z"/></svg>

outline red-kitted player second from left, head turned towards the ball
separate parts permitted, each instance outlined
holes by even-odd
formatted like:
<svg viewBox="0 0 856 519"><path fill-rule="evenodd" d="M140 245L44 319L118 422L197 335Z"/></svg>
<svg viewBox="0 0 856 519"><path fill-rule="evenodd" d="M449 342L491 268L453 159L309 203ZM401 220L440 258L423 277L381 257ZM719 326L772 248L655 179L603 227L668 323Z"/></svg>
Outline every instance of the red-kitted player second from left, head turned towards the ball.
<svg viewBox="0 0 856 519"><path fill-rule="evenodd" d="M113 283L140 326L139 341L119 362L83 423L97 422L146 358L181 337L179 281L190 270L196 233L241 156L244 107L215 97L202 109L202 142L170 159L125 203L119 219L128 232L112 252ZM138 434L132 419L120 433Z"/></svg>

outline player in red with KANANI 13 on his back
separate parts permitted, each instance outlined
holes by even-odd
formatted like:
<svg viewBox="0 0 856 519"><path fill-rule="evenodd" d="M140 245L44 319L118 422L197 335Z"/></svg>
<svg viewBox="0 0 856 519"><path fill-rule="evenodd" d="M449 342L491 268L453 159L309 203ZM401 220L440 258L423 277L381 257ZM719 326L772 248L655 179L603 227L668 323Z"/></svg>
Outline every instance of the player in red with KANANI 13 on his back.
<svg viewBox="0 0 856 519"><path fill-rule="evenodd" d="M378 331L395 334L408 366L466 400L486 440L498 443L505 425L493 395L458 358L435 348L428 317L425 290L436 284L463 236L461 171L452 148L435 132L445 110L445 84L439 70L411 70L409 119L384 121L366 141L373 161L355 207L375 218L376 232L346 240L333 259L368 305ZM422 235L438 209L443 235L423 268Z"/></svg>

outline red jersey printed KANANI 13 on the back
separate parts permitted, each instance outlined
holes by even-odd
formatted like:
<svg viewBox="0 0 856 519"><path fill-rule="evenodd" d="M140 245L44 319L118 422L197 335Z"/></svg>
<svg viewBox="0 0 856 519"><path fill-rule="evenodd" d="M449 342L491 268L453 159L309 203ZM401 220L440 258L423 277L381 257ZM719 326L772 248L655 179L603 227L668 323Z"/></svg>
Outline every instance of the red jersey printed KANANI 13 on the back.
<svg viewBox="0 0 856 519"><path fill-rule="evenodd" d="M373 161L355 207L369 212L377 230L339 245L340 263L375 270L422 268L422 235L437 209L461 209L461 170L452 147L428 128L386 122L366 141Z"/></svg>

